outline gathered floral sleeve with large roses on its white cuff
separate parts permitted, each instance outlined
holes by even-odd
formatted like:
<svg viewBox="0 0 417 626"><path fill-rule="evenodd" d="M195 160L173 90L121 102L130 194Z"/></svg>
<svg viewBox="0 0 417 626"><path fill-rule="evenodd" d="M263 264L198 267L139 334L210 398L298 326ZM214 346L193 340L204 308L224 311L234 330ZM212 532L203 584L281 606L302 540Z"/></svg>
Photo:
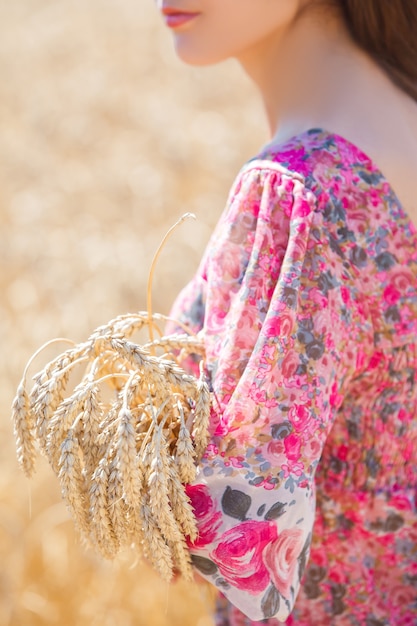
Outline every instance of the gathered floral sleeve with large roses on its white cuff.
<svg viewBox="0 0 417 626"><path fill-rule="evenodd" d="M314 474L355 368L355 280L326 207L271 162L240 173L205 260L211 439L187 486L198 572L285 620L308 561Z"/></svg>

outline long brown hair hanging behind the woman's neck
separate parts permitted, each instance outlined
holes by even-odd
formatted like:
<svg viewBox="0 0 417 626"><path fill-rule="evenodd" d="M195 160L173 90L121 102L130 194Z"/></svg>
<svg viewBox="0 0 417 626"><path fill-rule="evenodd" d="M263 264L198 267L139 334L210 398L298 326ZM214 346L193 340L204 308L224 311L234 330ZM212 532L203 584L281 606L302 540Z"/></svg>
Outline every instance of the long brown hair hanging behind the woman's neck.
<svg viewBox="0 0 417 626"><path fill-rule="evenodd" d="M417 0L333 0L353 40L417 101Z"/></svg>

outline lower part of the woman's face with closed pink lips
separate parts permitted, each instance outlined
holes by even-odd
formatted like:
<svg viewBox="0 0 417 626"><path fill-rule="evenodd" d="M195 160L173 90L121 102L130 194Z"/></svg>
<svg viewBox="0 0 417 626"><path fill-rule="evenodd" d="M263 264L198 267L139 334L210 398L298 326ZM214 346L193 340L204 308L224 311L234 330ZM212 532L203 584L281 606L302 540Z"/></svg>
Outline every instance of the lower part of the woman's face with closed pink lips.
<svg viewBox="0 0 417 626"><path fill-rule="evenodd" d="M156 0L178 56L208 65L255 54L282 37L309 0Z"/></svg>

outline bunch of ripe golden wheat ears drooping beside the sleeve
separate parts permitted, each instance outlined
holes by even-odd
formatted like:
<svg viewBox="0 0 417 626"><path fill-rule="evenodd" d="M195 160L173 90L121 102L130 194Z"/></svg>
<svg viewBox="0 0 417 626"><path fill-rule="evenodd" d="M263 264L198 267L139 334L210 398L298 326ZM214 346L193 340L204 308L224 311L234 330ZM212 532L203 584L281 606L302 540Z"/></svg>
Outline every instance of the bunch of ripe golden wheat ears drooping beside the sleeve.
<svg viewBox="0 0 417 626"><path fill-rule="evenodd" d="M186 538L195 540L197 529L184 485L207 445L210 393L176 356L202 356L201 338L162 336L164 319L149 305L71 342L28 394L36 353L13 418L20 465L32 475L38 443L82 536L108 558L134 544L170 580L174 570L191 577ZM143 326L150 341L141 346L130 339Z"/></svg>

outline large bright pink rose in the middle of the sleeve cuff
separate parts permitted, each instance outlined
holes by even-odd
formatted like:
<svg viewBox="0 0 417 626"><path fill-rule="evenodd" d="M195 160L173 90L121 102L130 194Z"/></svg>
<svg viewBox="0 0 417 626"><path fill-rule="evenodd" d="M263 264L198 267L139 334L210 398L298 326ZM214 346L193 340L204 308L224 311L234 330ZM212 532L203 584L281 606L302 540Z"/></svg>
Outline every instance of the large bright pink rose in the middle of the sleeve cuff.
<svg viewBox="0 0 417 626"><path fill-rule="evenodd" d="M273 522L242 522L221 536L210 558L225 580L238 589L257 594L269 584L262 552L276 538L277 528Z"/></svg>

